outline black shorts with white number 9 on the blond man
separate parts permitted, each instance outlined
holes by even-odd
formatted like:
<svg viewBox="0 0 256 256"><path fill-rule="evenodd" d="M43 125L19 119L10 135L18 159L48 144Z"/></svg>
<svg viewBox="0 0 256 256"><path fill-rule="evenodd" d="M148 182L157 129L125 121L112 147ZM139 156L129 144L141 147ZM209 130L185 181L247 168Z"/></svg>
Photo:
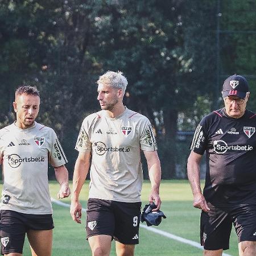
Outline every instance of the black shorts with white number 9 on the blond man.
<svg viewBox="0 0 256 256"><path fill-rule="evenodd" d="M89 199L86 212L86 239L105 234L125 245L139 243L141 202Z"/></svg>

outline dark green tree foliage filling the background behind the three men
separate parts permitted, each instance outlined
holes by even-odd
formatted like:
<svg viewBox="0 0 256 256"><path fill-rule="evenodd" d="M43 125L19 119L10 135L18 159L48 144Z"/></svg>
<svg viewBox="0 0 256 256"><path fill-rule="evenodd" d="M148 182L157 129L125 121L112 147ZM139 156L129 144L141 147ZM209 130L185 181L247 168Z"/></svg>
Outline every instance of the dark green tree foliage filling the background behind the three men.
<svg viewBox="0 0 256 256"><path fill-rule="evenodd" d="M97 77L120 70L129 81L125 104L153 123L164 176L174 177L183 148L176 131L195 129L221 106L216 92L226 76L247 75L255 110L255 2L220 7L218 16L217 1L207 0L1 1L0 126L14 120L15 88L36 85L38 121L56 130L71 171L82 119L99 109ZM222 31L237 31L220 34L220 84L217 18Z"/></svg>

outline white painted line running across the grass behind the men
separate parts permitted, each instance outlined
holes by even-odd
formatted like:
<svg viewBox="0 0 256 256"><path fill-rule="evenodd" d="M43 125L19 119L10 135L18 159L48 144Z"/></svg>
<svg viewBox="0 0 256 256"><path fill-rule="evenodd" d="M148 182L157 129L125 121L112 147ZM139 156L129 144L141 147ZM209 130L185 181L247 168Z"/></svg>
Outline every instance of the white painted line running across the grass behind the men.
<svg viewBox="0 0 256 256"><path fill-rule="evenodd" d="M63 207L70 207L69 204L63 203L63 202L61 202L59 200L56 200L56 199L54 199L52 197L51 197L51 200L52 200L53 203L61 205ZM86 210L84 208L82 208L82 212L86 212ZM139 226L141 226L141 228L147 229L147 230L149 230L151 232L154 232L156 234L160 234L160 235L162 235L164 237L171 238L172 240L176 240L176 241L179 241L181 243L186 243L187 245L191 245L193 247L197 247L197 248L199 248L201 250L204 249L203 246L200 245L200 243L197 243L197 242L185 239L183 237L175 236L174 234L168 233L166 231L162 231L160 229L153 228L152 226L146 226L144 224L140 224ZM232 256L232 255L226 254L226 253L222 253L222 256Z"/></svg>

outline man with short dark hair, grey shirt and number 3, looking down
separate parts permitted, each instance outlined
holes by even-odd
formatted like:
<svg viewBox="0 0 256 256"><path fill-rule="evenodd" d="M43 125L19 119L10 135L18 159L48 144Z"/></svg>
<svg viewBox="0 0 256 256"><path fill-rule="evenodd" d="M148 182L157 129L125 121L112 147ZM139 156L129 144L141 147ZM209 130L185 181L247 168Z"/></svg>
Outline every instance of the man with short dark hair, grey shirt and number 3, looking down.
<svg viewBox="0 0 256 256"><path fill-rule="evenodd" d="M1 254L22 255L25 235L32 255L50 256L52 204L48 162L60 184L59 198L68 197L67 158L51 128L35 122L39 92L20 86L13 102L16 121L0 130L0 164L4 173L1 197Z"/></svg>

